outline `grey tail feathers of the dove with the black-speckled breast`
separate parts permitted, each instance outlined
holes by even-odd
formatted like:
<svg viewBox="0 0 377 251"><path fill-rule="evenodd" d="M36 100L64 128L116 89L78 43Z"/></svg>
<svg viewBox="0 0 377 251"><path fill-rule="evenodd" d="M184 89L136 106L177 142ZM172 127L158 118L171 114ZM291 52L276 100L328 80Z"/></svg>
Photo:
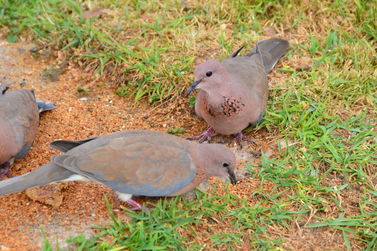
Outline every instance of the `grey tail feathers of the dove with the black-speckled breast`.
<svg viewBox="0 0 377 251"><path fill-rule="evenodd" d="M259 51L262 55L262 60L266 73L270 72L274 68L277 60L284 55L287 51L290 43L287 40L280 38L271 38L268 40L259 40L257 42ZM257 53L257 48L254 47L247 56L259 54Z"/></svg>

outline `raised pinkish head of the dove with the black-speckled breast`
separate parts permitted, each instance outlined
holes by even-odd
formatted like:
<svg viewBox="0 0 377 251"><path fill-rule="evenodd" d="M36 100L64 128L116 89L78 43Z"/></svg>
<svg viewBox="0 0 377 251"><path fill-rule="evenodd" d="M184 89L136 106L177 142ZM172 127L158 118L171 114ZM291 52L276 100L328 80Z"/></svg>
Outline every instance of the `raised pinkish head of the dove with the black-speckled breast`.
<svg viewBox="0 0 377 251"><path fill-rule="evenodd" d="M187 91L189 95L195 89L209 91L211 89L219 90L221 84L227 82L229 78L228 71L217 61L208 60L200 63L194 71L194 82Z"/></svg>

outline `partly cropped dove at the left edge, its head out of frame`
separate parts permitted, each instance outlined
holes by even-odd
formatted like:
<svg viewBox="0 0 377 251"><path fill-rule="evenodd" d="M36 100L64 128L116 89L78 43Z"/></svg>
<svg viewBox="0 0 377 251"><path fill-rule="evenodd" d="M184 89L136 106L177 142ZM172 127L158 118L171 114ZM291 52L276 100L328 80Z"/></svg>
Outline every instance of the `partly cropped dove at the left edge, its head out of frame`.
<svg viewBox="0 0 377 251"><path fill-rule="evenodd" d="M52 102L36 100L34 91L9 91L0 85L0 180L9 173L15 158L23 158L37 134L39 113L54 109Z"/></svg>

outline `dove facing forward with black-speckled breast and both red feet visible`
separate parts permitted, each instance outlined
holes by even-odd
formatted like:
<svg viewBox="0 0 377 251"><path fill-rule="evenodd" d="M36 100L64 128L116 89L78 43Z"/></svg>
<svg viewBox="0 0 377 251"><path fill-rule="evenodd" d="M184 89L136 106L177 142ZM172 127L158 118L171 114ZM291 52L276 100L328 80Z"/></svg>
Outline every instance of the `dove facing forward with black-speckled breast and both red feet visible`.
<svg viewBox="0 0 377 251"><path fill-rule="evenodd" d="M242 134L248 125L256 125L263 117L268 98L267 73L288 49L289 42L279 38L260 40L246 56L237 56L242 50L221 62L209 60L195 68L195 79L187 95L199 88L195 102L196 114L210 128L190 140L203 142L218 134L234 134L229 143L250 141Z"/></svg>

